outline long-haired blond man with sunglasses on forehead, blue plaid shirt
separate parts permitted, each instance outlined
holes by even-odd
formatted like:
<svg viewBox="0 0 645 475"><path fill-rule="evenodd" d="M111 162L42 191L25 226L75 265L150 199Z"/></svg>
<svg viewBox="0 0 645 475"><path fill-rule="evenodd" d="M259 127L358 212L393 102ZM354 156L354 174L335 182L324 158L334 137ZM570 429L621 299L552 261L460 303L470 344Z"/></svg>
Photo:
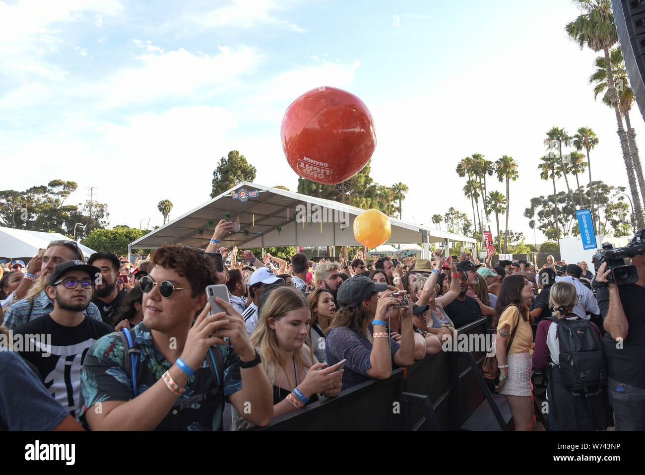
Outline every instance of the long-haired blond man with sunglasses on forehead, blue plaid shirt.
<svg viewBox="0 0 645 475"><path fill-rule="evenodd" d="M36 278L35 275L30 273L25 274L25 279L27 279L27 281L34 282L34 287L30 290L30 294L34 292L37 292L37 294L34 294L33 296L27 294L26 298L15 302L14 305L9 307L5 313L3 326L9 330L15 330L15 328L27 323L28 321L52 312L52 310L54 310L54 301L49 298L45 290L48 285L49 276L52 274L56 265L73 260L81 262L85 261L83 253L79 249L77 243L74 241L52 241L49 243L45 254L43 254L42 264L39 269L37 269L41 271L40 277ZM37 270L35 270L35 272L37 272ZM95 281L95 279L100 276L101 273L99 272L96 276L93 276L92 279ZM19 287L18 290L21 290L21 288ZM94 303L90 302L90 305L88 305L84 310L84 314L89 318L102 321L101 312L99 312L99 308L97 308Z"/></svg>

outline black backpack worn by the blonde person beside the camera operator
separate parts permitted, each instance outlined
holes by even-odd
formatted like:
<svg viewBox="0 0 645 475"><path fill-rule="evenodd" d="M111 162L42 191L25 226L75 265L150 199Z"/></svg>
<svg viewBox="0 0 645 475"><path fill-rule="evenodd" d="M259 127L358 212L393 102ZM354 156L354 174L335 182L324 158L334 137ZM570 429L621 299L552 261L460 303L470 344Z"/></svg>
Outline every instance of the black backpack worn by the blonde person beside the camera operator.
<svg viewBox="0 0 645 475"><path fill-rule="evenodd" d="M560 361L554 363L559 365L560 379L567 390L581 394L595 392L607 381L602 340L590 321L568 320L567 316L545 318L557 323Z"/></svg>

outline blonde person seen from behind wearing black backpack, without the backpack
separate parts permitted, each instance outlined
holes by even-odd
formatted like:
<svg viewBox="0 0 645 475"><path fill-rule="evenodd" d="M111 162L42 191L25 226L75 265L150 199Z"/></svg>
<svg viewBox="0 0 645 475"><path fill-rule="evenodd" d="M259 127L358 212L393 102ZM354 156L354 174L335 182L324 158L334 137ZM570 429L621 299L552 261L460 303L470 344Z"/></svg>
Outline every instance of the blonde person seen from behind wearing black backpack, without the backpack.
<svg viewBox="0 0 645 475"><path fill-rule="evenodd" d="M572 283L556 282L551 286L549 301L553 307L553 317L543 319L537 325L535 334L535 352L533 352L533 368L546 368L548 385L546 398L548 403L549 430L605 430L607 428L604 398L606 392L598 389L586 394L574 395L566 390L560 377L560 343L558 339L558 323L562 319L579 319L573 313L577 291ZM600 330L595 324L590 329L597 334L597 345L602 348Z"/></svg>

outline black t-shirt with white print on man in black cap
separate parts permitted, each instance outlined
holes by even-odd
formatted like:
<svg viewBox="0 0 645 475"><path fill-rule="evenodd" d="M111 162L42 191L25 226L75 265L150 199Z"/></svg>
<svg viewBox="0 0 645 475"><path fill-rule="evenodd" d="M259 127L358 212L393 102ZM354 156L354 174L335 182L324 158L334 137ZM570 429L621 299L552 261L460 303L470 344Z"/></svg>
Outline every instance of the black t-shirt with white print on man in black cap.
<svg viewBox="0 0 645 475"><path fill-rule="evenodd" d="M16 345L15 350L34 365L50 394L78 420L85 355L97 339L112 331L110 325L87 316L79 325L65 327L47 314L16 328L14 344L21 335L22 347Z"/></svg>

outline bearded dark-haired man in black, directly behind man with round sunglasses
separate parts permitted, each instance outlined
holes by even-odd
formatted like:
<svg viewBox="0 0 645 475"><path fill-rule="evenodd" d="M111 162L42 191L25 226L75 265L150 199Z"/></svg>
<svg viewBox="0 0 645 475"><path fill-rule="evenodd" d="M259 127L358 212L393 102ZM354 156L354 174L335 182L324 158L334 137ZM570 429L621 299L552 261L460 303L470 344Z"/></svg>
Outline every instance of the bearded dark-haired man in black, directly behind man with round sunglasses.
<svg viewBox="0 0 645 475"><path fill-rule="evenodd" d="M103 323L114 328L118 322L112 320L127 294L127 292L117 290L117 278L121 267L119 258L110 252L95 252L87 259L87 263L101 270L101 279L95 283L92 303L99 307Z"/></svg>

